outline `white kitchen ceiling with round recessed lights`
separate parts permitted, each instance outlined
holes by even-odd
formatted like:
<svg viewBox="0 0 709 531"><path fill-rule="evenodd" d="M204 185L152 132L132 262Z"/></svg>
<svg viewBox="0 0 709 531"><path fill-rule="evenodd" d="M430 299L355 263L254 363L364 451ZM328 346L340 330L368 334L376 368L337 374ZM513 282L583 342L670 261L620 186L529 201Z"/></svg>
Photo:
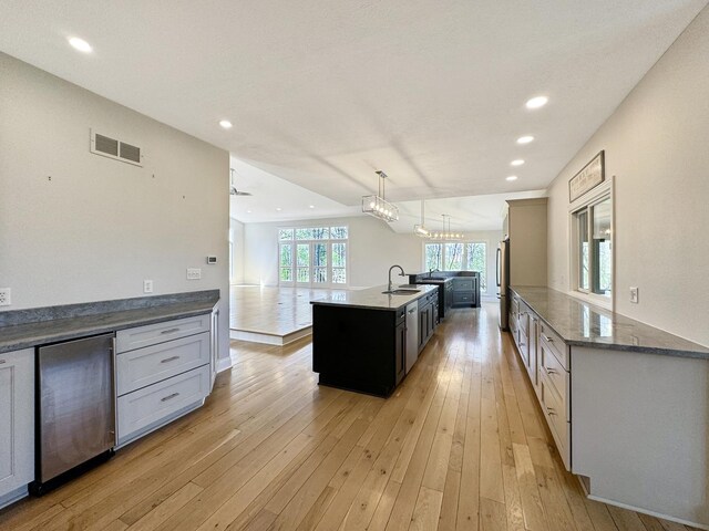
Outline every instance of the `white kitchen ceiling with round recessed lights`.
<svg viewBox="0 0 709 531"><path fill-rule="evenodd" d="M0 50L342 208L545 188L706 3L0 0Z"/></svg>

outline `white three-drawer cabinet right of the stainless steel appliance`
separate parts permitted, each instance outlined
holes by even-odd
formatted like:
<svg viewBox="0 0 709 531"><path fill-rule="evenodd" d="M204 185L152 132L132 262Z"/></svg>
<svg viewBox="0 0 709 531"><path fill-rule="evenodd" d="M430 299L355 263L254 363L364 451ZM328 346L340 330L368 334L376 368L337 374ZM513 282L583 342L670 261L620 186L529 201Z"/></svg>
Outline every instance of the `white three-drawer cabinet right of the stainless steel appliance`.
<svg viewBox="0 0 709 531"><path fill-rule="evenodd" d="M116 332L117 447L204 404L213 320L206 313Z"/></svg>

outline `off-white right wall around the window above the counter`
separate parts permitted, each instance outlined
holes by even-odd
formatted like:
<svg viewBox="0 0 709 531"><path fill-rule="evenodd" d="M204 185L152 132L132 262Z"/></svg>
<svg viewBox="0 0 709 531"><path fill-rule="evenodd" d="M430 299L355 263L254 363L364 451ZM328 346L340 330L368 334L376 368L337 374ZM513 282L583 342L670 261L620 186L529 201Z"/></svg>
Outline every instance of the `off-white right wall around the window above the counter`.
<svg viewBox="0 0 709 531"><path fill-rule="evenodd" d="M615 176L615 311L705 345L707 58L705 8L548 189L549 287L569 287L568 179L605 149L606 175ZM639 288L639 304L629 287Z"/></svg>

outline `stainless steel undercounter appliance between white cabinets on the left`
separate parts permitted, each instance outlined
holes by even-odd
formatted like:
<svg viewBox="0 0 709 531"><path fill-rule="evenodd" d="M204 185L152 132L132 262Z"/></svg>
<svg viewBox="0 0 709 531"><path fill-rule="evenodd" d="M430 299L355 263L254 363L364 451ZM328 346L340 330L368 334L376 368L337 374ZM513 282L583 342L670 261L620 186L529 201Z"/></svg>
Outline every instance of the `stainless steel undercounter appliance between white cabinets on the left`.
<svg viewBox="0 0 709 531"><path fill-rule="evenodd" d="M35 480L42 494L102 462L115 446L113 334L37 350Z"/></svg>

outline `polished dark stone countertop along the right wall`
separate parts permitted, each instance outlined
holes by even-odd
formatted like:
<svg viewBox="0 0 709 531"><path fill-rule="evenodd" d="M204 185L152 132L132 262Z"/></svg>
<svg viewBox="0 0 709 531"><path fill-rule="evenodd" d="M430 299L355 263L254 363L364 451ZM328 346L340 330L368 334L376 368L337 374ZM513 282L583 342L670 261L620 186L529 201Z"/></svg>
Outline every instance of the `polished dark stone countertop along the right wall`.
<svg viewBox="0 0 709 531"><path fill-rule="evenodd" d="M511 288L568 345L709 360L709 348L549 288Z"/></svg>

